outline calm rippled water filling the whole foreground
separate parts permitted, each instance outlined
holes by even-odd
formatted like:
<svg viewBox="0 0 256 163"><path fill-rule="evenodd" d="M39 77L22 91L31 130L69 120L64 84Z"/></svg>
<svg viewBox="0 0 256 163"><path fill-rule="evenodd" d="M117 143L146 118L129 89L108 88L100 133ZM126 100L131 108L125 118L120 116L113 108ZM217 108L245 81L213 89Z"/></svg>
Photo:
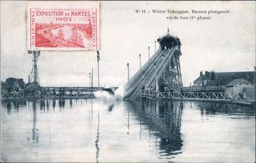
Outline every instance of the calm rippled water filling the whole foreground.
<svg viewBox="0 0 256 163"><path fill-rule="evenodd" d="M255 108L105 99L2 101L3 162L255 162Z"/></svg>

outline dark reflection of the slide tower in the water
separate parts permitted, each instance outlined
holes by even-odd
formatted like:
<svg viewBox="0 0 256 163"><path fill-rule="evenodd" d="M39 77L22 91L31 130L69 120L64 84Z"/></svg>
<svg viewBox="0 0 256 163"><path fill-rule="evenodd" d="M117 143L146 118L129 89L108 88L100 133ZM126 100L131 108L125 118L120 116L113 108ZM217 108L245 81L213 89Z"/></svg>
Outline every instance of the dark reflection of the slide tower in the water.
<svg viewBox="0 0 256 163"><path fill-rule="evenodd" d="M161 156L177 155L181 152L182 139L180 134L182 102L165 102L144 100L142 102L125 102L129 115L137 119L140 126L139 137L142 137L142 126L150 135L148 142L155 141Z"/></svg>

